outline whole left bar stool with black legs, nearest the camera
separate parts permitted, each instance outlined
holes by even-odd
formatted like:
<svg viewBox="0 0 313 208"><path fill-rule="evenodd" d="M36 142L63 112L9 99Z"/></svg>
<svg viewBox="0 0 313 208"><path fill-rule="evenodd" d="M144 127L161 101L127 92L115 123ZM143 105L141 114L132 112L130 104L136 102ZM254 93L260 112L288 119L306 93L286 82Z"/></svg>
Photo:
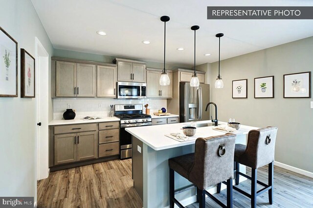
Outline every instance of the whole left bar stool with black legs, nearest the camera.
<svg viewBox="0 0 313 208"><path fill-rule="evenodd" d="M197 187L199 207L205 208L205 194L223 208L232 208L233 158L236 135L226 133L220 136L198 138L195 153L169 159L170 208L174 204L183 208L175 198L174 172L176 171ZM205 189L227 180L227 206Z"/></svg>

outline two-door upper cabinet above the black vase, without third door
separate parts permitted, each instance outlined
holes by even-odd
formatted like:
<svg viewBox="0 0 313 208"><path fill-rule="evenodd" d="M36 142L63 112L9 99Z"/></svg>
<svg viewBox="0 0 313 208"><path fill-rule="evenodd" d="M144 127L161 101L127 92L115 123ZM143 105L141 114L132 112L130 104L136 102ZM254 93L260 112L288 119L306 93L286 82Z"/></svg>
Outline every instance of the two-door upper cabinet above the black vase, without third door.
<svg viewBox="0 0 313 208"><path fill-rule="evenodd" d="M95 65L56 61L57 97L94 97Z"/></svg>

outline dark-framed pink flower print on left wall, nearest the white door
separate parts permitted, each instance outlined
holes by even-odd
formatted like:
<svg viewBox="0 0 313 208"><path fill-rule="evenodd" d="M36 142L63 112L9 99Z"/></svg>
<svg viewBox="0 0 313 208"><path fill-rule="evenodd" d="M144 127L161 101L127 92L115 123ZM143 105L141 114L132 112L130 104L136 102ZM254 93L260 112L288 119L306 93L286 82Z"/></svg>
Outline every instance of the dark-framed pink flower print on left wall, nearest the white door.
<svg viewBox="0 0 313 208"><path fill-rule="evenodd" d="M21 48L21 97L35 97L35 58Z"/></svg>

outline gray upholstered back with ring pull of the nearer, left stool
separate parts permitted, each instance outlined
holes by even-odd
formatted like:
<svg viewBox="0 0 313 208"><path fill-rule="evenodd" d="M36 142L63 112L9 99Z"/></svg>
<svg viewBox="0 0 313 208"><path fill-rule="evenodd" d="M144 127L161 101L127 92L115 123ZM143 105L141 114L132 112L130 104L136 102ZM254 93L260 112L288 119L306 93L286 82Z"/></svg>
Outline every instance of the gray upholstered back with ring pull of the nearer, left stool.
<svg viewBox="0 0 313 208"><path fill-rule="evenodd" d="M236 135L233 133L198 138L189 181L204 190L233 178L235 140Z"/></svg>

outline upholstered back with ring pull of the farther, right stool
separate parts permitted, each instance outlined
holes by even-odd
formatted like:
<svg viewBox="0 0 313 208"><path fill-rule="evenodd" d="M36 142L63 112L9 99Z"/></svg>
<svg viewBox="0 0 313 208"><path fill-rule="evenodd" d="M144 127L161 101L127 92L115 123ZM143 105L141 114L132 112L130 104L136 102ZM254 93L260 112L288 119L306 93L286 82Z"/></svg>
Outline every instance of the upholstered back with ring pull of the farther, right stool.
<svg viewBox="0 0 313 208"><path fill-rule="evenodd" d="M251 130L248 133L246 151L239 163L258 169L274 161L277 127Z"/></svg>

